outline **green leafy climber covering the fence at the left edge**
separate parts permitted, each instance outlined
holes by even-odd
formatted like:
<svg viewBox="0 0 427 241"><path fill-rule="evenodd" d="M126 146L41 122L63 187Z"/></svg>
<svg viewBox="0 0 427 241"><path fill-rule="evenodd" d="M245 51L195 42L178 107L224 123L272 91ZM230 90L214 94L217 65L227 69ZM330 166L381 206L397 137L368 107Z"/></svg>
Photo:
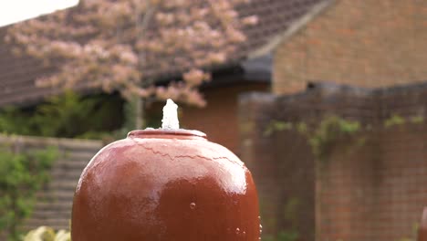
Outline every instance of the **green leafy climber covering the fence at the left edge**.
<svg viewBox="0 0 427 241"><path fill-rule="evenodd" d="M18 225L31 215L35 195L49 181L49 170L57 158L53 147L43 151L0 150L0 234L17 240Z"/></svg>

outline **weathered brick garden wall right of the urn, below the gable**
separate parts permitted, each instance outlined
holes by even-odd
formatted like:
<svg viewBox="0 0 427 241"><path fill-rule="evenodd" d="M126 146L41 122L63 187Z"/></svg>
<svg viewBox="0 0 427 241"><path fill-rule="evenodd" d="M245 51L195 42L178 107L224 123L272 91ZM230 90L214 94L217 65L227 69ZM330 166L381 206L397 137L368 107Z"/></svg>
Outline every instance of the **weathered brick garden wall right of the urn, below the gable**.
<svg viewBox="0 0 427 241"><path fill-rule="evenodd" d="M426 84L373 90L317 85L296 95L242 96L242 158L255 177L266 234L294 229L300 240L316 234L316 240L334 241L412 237L427 205L427 124L411 118L425 119L425 110ZM334 142L326 162L296 131L265 134L272 120L316 126L331 114L371 129ZM406 123L384 127L393 115ZM292 223L284 210L295 198Z"/></svg>

